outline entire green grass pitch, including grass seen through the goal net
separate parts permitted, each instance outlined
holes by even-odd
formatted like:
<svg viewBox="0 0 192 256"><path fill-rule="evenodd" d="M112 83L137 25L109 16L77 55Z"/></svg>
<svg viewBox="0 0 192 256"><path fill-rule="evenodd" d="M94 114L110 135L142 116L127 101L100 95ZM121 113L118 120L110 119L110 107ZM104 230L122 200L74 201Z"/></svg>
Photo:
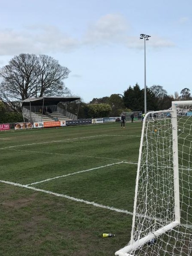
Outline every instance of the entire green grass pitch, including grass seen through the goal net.
<svg viewBox="0 0 192 256"><path fill-rule="evenodd" d="M174 177L171 168L166 172L172 157L170 119L155 124L157 132L153 122L146 125L138 209L145 214L147 198L147 215L161 219L169 215L172 220ZM192 224L191 120L179 119L178 127L186 127L178 132L184 226L178 228L178 236L175 231L166 233L155 246L145 244L141 249L144 254L138 250L136 255L165 255L164 249L172 251L172 245L177 255L180 240L185 243L182 252L189 251L187 239L191 240L184 241L182 236L189 232L185 225ZM131 234L141 128L141 122L129 122L126 129L109 123L0 132L0 255L111 256L124 247ZM27 184L29 187L24 187ZM139 226L140 215L137 217ZM145 222L151 228L148 218L142 218ZM146 227L143 233L149 232ZM102 238L102 233L114 233L115 237Z"/></svg>

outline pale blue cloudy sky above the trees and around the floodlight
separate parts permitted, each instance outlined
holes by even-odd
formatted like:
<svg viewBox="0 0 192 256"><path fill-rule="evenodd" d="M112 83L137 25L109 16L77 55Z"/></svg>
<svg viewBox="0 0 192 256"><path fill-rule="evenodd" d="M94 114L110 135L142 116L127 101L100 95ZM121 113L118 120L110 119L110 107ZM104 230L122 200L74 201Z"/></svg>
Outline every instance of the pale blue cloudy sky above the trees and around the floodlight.
<svg viewBox="0 0 192 256"><path fill-rule="evenodd" d="M74 96L123 94L136 83L192 93L191 0L0 0L0 67L20 53L45 54L71 72Z"/></svg>

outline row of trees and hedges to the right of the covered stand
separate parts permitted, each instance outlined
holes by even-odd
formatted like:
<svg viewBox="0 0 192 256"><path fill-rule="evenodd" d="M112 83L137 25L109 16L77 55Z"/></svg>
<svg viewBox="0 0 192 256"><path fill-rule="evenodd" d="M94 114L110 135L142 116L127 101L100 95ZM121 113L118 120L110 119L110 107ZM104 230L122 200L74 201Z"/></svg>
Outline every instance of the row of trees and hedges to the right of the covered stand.
<svg viewBox="0 0 192 256"><path fill-rule="evenodd" d="M179 93L168 95L167 91L160 85L153 85L146 88L147 111L158 111L169 109L172 106L172 101L191 100L192 96L188 88L184 88ZM73 103L74 104L74 103ZM91 111L100 108L99 111ZM102 109L107 110L108 113L102 112ZM81 117L102 117L102 116L119 116L122 112L128 111L143 111L144 112L144 89L141 89L139 84L133 87L129 86L123 94L112 94L102 98L94 98L89 104L81 102L79 108ZM73 107L71 107L73 111Z"/></svg>

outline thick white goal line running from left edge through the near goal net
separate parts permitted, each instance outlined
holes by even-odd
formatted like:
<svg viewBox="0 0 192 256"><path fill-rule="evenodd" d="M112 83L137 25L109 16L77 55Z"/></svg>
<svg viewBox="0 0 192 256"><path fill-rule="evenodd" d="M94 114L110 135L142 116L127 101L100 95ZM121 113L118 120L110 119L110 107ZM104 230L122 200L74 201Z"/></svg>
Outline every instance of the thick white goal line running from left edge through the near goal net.
<svg viewBox="0 0 192 256"><path fill-rule="evenodd" d="M125 213L125 214L128 214L128 215L133 215L133 212L129 212L129 211L124 210L124 209L118 209L118 208L106 206L106 205L103 205L103 204L97 204L95 202L90 202L90 201L87 201L87 200L84 200L84 199L74 198L74 197L71 197L69 195L59 194L59 193L55 193L55 192L44 190L44 189L37 189L37 188L32 187L32 186L22 185L20 183L15 183L15 182L6 181L6 180L0 180L0 182L6 183L6 184L9 184L9 185L19 186L19 187L26 188L26 189L32 189L32 190L39 191L39 192L44 192L44 193L47 193L49 195L55 195L55 196L58 196L58 197L67 198L67 199L70 199L70 200L73 200L73 201L76 201L76 202L81 202L81 203L84 203L84 204L93 205L95 207L104 208L104 209L108 209L108 210L115 211L115 212L121 212L121 213ZM136 216L147 218L147 219L152 219L152 220L155 219L157 221L165 222L161 219L152 218L152 217L149 217L149 216L146 216L146 215L140 215L138 213L136 214ZM180 224L180 225L183 226L183 227L186 227L186 228L192 228L192 225L189 225L189 224Z"/></svg>

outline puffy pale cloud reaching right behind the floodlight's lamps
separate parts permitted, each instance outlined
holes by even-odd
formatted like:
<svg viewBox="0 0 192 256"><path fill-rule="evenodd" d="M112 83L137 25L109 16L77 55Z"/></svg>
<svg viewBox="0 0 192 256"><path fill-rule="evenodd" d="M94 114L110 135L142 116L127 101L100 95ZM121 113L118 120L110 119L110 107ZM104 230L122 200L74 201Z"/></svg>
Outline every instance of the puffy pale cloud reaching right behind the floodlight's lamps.
<svg viewBox="0 0 192 256"><path fill-rule="evenodd" d="M84 44L92 46L121 44L127 48L143 49L143 42L139 39L139 35L130 35L130 25L119 14L108 14L101 17L88 28L82 40ZM148 45L153 48L175 46L171 40L156 35L151 35Z"/></svg>

